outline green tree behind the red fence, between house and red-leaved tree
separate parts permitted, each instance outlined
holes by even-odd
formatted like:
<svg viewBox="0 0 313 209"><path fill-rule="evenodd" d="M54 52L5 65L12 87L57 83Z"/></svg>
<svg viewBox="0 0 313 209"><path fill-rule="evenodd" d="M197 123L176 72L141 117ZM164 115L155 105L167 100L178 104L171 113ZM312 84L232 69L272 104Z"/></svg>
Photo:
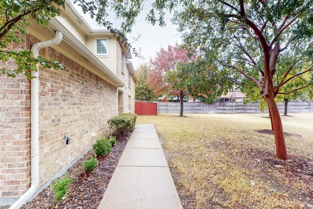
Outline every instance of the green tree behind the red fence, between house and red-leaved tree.
<svg viewBox="0 0 313 209"><path fill-rule="evenodd" d="M136 70L136 75L135 98L140 100L153 100L153 93L147 82L148 64L144 63L140 65Z"/></svg>

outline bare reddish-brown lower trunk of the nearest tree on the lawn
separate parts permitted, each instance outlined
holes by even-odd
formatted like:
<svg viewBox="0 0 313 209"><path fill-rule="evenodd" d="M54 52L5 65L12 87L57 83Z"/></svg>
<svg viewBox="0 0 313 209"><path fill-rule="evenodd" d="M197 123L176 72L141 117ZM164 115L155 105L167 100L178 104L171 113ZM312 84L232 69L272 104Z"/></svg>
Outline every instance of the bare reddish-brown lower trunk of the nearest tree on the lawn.
<svg viewBox="0 0 313 209"><path fill-rule="evenodd" d="M274 98L268 98L268 110L270 110L270 115L273 122L273 131L275 136L275 144L276 144L276 156L279 159L287 160L288 154L286 149L286 142L283 130L282 120L279 115L279 111L276 105Z"/></svg>

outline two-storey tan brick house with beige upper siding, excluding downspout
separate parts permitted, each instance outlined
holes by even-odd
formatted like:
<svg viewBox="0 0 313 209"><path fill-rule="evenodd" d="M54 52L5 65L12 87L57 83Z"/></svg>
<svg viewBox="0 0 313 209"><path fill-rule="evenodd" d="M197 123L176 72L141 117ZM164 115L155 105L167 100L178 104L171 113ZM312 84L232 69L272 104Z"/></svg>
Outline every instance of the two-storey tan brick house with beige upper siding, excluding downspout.
<svg viewBox="0 0 313 209"><path fill-rule="evenodd" d="M61 31L62 42L40 53L67 65L39 68L39 192L91 148L109 118L134 113L136 77L130 51L110 31L90 28L71 4L47 28L28 30L21 46L28 49ZM16 68L14 61L0 66ZM0 77L0 206L30 186L30 88L23 75Z"/></svg>

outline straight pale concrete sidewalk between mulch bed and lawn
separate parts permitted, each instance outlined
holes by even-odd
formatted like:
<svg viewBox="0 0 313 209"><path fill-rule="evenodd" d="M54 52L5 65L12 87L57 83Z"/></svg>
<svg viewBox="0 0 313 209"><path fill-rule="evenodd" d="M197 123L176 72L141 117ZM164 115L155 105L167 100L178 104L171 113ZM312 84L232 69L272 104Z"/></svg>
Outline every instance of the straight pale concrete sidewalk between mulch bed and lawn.
<svg viewBox="0 0 313 209"><path fill-rule="evenodd" d="M182 209L154 124L136 124L98 209Z"/></svg>

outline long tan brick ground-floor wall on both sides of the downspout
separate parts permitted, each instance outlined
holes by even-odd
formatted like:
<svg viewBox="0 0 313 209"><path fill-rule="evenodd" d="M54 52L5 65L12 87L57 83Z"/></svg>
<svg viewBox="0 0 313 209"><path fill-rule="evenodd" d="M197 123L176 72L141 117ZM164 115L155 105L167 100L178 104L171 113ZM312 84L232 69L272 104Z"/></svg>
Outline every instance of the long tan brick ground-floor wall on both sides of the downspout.
<svg viewBox="0 0 313 209"><path fill-rule="evenodd" d="M26 38L28 48L36 42ZM40 185L91 148L92 134L118 114L116 87L52 48L41 52L67 70L40 68ZM18 197L30 184L30 82L1 77L0 87L0 198Z"/></svg>

